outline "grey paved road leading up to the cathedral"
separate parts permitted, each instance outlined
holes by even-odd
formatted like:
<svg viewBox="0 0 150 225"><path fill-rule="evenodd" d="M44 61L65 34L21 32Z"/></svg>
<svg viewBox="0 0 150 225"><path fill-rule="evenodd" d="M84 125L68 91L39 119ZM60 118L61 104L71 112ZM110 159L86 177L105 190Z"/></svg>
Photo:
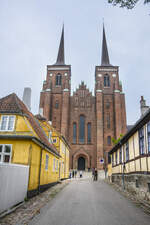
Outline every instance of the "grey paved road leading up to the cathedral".
<svg viewBox="0 0 150 225"><path fill-rule="evenodd" d="M103 181L77 180L30 225L150 225L150 216Z"/></svg>

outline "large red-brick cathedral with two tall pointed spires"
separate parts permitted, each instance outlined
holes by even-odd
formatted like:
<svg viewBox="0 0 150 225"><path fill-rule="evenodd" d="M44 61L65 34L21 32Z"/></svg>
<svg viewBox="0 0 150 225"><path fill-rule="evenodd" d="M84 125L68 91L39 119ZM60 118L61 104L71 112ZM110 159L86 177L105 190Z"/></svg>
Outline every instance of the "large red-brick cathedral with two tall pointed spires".
<svg viewBox="0 0 150 225"><path fill-rule="evenodd" d="M64 28L56 63L47 66L40 95L40 114L68 140L70 168L104 170L112 138L126 133L125 95L119 67L110 64L103 26L101 64L95 66L94 95L84 82L71 93L71 65L65 64Z"/></svg>

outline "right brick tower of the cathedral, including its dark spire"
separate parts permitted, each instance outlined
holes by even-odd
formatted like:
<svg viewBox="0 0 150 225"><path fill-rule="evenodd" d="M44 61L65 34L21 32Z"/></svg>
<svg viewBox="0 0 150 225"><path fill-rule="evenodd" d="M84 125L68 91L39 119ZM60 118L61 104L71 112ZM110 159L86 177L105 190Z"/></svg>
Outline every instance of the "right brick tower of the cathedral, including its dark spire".
<svg viewBox="0 0 150 225"><path fill-rule="evenodd" d="M126 133L125 96L119 81L119 67L112 66L103 25L101 65L95 67L95 97L97 124L97 168L107 164L112 137Z"/></svg>

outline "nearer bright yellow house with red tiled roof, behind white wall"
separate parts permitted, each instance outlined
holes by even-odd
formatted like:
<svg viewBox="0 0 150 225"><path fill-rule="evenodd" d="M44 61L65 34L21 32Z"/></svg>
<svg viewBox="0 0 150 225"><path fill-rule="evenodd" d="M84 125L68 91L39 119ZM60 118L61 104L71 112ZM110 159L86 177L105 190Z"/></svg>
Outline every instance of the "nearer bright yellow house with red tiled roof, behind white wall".
<svg viewBox="0 0 150 225"><path fill-rule="evenodd" d="M28 196L59 181L60 160L24 103L15 94L0 99L0 162L29 165Z"/></svg>

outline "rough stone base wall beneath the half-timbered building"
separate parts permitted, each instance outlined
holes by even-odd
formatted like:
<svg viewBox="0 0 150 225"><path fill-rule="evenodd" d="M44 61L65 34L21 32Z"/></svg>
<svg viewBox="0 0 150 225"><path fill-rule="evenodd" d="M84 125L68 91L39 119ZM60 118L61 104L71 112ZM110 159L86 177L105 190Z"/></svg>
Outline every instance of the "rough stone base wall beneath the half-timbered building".
<svg viewBox="0 0 150 225"><path fill-rule="evenodd" d="M150 202L150 175L147 174L113 174L111 181L125 188L141 200Z"/></svg>

